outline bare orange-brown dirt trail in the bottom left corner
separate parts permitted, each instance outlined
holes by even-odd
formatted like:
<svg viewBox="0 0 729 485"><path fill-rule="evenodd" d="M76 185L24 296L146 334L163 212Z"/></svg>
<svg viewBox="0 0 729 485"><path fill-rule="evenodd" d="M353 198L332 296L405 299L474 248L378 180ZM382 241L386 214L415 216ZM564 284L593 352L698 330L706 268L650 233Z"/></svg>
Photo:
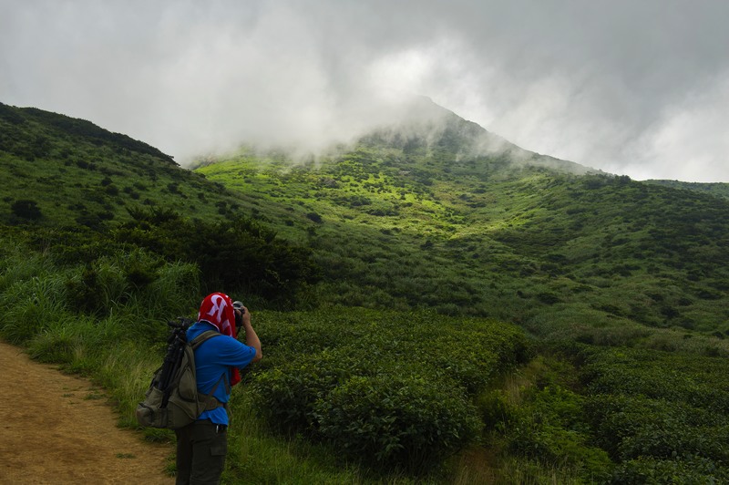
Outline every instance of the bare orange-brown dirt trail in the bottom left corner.
<svg viewBox="0 0 729 485"><path fill-rule="evenodd" d="M117 428L102 391L0 342L0 483L149 483L169 446Z"/></svg>

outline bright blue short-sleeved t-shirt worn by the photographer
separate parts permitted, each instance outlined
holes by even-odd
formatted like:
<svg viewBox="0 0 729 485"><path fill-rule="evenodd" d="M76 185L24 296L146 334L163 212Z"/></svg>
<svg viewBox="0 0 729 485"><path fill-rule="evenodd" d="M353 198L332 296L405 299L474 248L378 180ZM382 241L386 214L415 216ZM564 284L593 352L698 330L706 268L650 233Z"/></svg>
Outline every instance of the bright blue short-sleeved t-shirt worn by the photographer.
<svg viewBox="0 0 729 485"><path fill-rule="evenodd" d="M197 322L188 329L188 342L196 336L208 330L218 329L205 321ZM213 396L219 401L226 403L231 395L228 393L231 382L232 367L242 368L251 364L256 356L256 349L246 346L235 338L228 335L216 335L209 338L195 349L195 368L198 380L198 391L208 394L218 381L218 387ZM225 376L221 380L221 376ZM210 419L215 424L227 425L228 413L225 408L215 408L210 411L203 411L198 419Z"/></svg>

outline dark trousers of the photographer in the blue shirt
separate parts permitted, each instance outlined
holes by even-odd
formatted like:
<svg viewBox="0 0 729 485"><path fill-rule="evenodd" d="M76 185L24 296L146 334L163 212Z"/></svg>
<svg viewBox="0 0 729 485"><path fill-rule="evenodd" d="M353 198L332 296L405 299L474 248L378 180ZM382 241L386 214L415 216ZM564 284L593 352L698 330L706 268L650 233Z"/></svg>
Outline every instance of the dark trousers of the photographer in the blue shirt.
<svg viewBox="0 0 729 485"><path fill-rule="evenodd" d="M212 485L221 481L228 453L227 427L209 419L195 421L175 430L177 435L177 479L175 483Z"/></svg>

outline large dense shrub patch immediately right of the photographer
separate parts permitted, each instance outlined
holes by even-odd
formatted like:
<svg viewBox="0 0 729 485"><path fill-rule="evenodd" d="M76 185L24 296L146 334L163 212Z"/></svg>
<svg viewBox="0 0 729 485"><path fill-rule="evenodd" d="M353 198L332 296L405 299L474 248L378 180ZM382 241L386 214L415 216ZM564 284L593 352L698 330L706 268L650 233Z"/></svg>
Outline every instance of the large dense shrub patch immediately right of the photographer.
<svg viewBox="0 0 729 485"><path fill-rule="evenodd" d="M472 398L528 346L513 326L433 320L340 310L264 325L266 364L252 377L262 413L375 468L435 466L475 439Z"/></svg>

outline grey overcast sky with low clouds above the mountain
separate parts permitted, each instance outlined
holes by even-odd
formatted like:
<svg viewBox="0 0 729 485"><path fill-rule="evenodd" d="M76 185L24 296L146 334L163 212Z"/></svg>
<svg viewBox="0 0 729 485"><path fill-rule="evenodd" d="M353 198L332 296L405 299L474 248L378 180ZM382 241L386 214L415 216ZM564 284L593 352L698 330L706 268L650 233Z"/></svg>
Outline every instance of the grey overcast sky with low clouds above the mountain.
<svg viewBox="0 0 729 485"><path fill-rule="evenodd" d="M0 0L0 102L180 163L354 135L424 95L633 179L729 181L729 1Z"/></svg>

